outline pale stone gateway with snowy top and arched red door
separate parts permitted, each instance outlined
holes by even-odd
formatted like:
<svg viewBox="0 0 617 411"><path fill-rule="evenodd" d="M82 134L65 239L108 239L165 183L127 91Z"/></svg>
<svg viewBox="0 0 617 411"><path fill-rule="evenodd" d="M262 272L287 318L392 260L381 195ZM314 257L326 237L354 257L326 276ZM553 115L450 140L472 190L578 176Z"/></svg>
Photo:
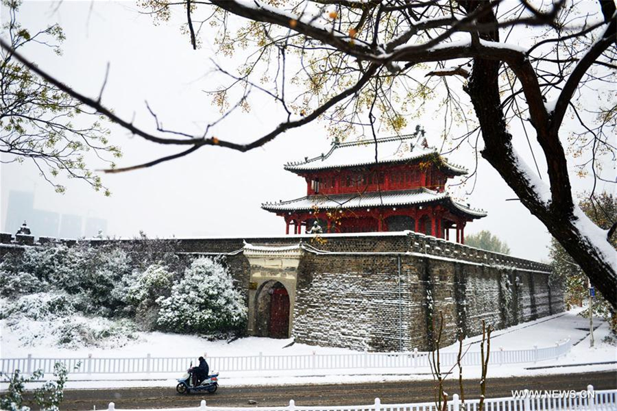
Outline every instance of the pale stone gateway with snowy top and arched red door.
<svg viewBox="0 0 617 411"><path fill-rule="evenodd" d="M243 252L251 266L248 333L260 337L291 337L302 249L298 245L245 244Z"/></svg>

